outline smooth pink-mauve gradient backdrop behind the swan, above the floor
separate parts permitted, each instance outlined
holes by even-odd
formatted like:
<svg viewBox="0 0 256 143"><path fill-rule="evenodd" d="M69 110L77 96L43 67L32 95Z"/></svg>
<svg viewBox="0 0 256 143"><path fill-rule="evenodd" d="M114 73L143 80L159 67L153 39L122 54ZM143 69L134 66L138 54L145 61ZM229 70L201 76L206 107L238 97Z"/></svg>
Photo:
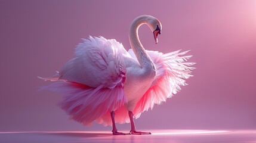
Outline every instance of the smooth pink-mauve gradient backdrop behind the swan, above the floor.
<svg viewBox="0 0 256 143"><path fill-rule="evenodd" d="M195 77L181 92L135 120L138 129L256 129L256 1L1 1L0 131L110 130L67 120L61 97L38 87L73 56L81 38L115 38L129 49L128 28L141 14L161 20L158 45L146 26L145 48L189 50ZM129 130L129 124L118 125Z"/></svg>

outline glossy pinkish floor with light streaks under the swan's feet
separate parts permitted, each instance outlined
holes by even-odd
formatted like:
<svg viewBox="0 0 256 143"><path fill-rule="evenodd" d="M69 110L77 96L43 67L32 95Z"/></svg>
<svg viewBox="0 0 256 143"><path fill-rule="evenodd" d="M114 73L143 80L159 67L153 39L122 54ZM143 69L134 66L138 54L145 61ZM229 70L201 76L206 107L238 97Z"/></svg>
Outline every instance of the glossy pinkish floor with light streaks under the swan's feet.
<svg viewBox="0 0 256 143"><path fill-rule="evenodd" d="M256 130L151 130L152 135L114 136L100 132L0 132L4 143L75 143L75 142L235 142L256 143Z"/></svg>

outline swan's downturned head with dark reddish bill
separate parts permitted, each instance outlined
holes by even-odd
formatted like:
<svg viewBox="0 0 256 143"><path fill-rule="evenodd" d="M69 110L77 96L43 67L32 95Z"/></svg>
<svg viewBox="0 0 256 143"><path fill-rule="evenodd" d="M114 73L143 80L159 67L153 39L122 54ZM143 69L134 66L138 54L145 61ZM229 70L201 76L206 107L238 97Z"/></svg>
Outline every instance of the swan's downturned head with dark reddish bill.
<svg viewBox="0 0 256 143"><path fill-rule="evenodd" d="M155 42L158 43L158 35L161 34L161 30L162 30L161 22L155 17L150 17L149 27L153 32Z"/></svg>

